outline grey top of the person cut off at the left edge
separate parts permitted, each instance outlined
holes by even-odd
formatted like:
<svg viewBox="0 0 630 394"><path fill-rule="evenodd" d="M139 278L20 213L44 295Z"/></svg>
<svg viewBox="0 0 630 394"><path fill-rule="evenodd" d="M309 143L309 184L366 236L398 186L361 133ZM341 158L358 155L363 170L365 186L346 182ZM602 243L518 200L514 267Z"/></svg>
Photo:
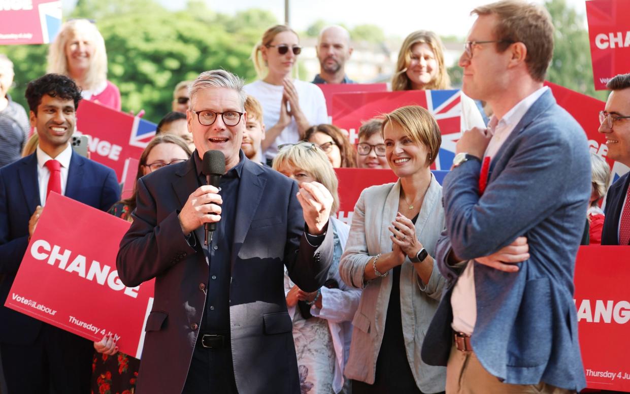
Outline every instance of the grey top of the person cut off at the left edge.
<svg viewBox="0 0 630 394"><path fill-rule="evenodd" d="M24 108L11 100L11 96L6 95L6 98L9 103L0 111L0 167L22 157L22 149L30 130Z"/></svg>

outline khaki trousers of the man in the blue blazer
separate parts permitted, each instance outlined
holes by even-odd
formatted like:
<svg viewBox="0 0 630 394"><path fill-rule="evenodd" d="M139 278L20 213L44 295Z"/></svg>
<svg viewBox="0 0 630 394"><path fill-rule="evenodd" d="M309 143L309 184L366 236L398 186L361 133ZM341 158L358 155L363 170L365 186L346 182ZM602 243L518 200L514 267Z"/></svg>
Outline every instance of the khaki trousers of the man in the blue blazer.
<svg viewBox="0 0 630 394"><path fill-rule="evenodd" d="M474 352L458 351L453 345L450 349L449 363L446 367L447 394L570 394L575 391L558 388L541 382L537 385L510 385L501 383L496 376L486 371Z"/></svg>

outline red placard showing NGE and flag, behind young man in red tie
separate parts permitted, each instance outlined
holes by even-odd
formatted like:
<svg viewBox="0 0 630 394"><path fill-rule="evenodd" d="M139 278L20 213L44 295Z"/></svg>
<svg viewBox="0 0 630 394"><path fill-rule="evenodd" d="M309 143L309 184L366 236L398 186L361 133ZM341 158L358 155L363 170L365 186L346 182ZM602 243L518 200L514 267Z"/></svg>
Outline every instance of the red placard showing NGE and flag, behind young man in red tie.
<svg viewBox="0 0 630 394"><path fill-rule="evenodd" d="M77 134L88 135L90 158L116 171L120 182L124 182L125 159L139 159L156 128L147 120L88 100L82 100L77 110Z"/></svg>

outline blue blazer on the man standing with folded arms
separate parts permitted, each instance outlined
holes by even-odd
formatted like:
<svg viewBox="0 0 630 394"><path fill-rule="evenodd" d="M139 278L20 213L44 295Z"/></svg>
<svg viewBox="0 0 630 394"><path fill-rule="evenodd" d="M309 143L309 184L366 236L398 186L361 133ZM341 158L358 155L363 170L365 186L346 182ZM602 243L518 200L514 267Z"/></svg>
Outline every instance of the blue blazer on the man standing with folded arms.
<svg viewBox="0 0 630 394"><path fill-rule="evenodd" d="M483 367L505 383L586 386L573 304L575 257L590 196L584 131L546 91L493 159L479 197L481 164L467 161L444 179L446 230L437 260L449 281L427 330L422 357L446 365L452 345L452 287L464 267L527 236L529 260L507 273L475 264L477 320L472 345Z"/></svg>

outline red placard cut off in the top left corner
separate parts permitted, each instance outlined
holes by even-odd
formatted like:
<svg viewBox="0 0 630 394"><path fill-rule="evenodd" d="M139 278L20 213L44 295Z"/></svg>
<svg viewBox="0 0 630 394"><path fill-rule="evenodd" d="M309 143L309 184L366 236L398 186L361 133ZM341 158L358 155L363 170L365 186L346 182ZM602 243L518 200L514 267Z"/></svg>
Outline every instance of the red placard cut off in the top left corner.
<svg viewBox="0 0 630 394"><path fill-rule="evenodd" d="M0 45L50 43L61 28L61 1L0 1Z"/></svg>

